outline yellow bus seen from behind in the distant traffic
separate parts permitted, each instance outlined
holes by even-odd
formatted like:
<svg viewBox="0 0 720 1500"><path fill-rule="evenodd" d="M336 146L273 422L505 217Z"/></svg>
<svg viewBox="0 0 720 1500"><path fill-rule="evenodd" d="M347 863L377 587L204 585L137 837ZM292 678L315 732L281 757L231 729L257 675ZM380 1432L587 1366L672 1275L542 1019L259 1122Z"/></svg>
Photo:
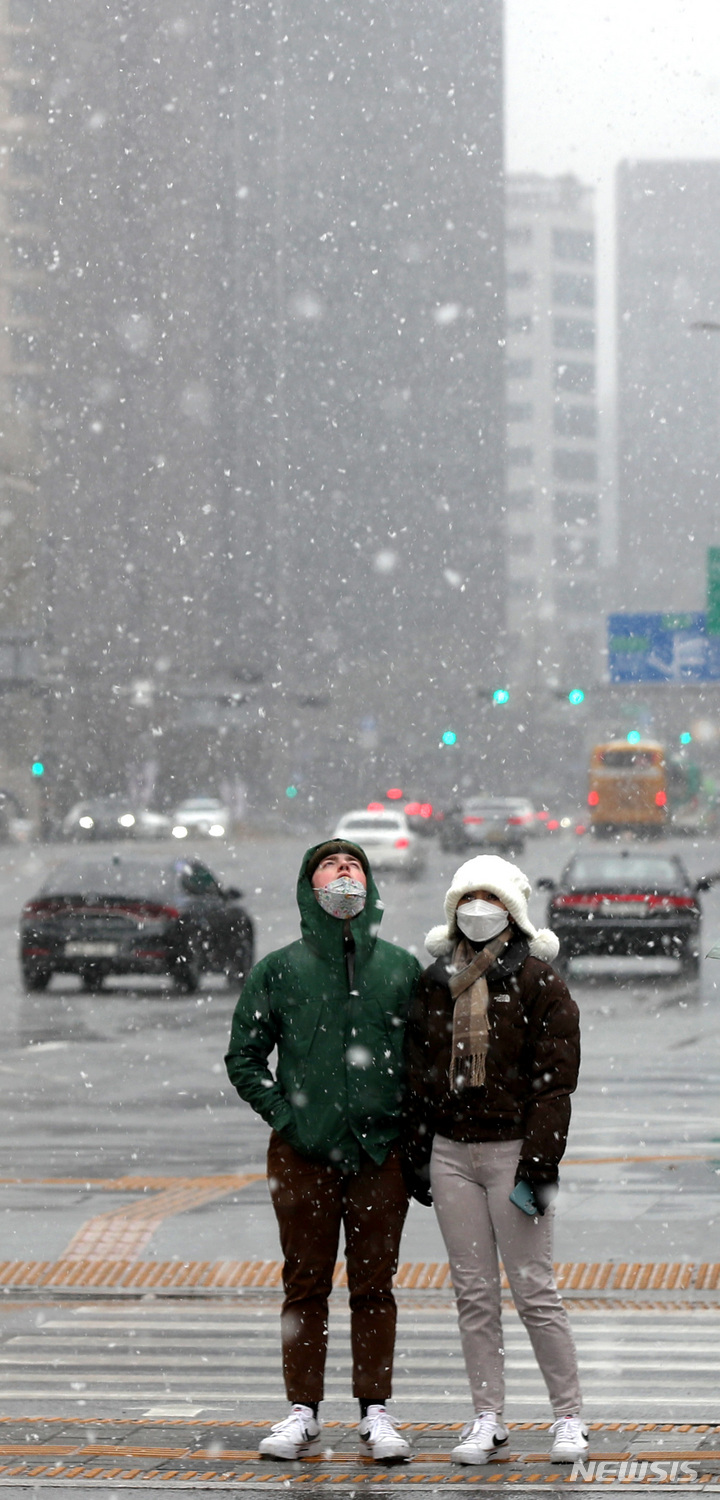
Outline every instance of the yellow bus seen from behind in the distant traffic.
<svg viewBox="0 0 720 1500"><path fill-rule="evenodd" d="M650 837L668 822L664 750L656 740L610 740L590 756L590 826L598 837L632 830Z"/></svg>

